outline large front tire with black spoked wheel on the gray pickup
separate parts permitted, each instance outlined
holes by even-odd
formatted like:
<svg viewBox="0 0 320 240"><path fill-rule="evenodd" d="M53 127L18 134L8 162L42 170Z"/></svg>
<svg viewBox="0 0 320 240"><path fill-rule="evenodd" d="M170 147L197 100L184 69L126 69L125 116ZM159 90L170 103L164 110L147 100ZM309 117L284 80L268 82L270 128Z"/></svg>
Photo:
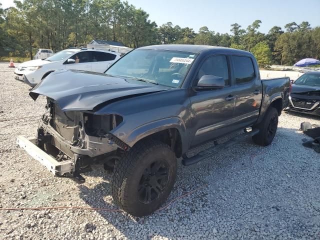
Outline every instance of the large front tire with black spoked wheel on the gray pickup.
<svg viewBox="0 0 320 240"><path fill-rule="evenodd" d="M163 142L142 140L115 162L112 197L134 216L151 214L167 199L176 177L174 152Z"/></svg>

